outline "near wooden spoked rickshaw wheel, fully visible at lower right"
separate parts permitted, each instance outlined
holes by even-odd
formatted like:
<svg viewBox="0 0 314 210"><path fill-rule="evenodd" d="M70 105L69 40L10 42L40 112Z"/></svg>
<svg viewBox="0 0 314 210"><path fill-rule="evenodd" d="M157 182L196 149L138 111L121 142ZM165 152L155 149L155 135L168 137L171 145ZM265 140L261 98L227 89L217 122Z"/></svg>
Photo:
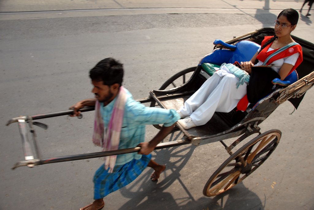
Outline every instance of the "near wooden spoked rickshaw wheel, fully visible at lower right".
<svg viewBox="0 0 314 210"><path fill-rule="evenodd" d="M216 196L240 183L271 155L280 137L281 131L273 129L246 143L214 172L204 186L203 194Z"/></svg>

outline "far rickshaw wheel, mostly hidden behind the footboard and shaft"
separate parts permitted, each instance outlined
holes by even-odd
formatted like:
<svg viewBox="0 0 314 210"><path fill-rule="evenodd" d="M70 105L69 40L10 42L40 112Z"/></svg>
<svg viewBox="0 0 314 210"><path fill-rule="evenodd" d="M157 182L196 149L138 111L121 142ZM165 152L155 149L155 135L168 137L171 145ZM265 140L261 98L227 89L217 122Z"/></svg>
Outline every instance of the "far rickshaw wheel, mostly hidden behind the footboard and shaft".
<svg viewBox="0 0 314 210"><path fill-rule="evenodd" d="M171 88L176 88L184 83L186 83L190 77L187 75L188 73L194 72L197 67L190 67L182 70L181 72L178 72L174 74L171 78L167 79L163 85L158 90L165 90L165 89L171 89ZM181 78L182 77L182 78ZM182 80L181 80L182 79ZM175 83L176 82L176 83ZM169 86L173 87L169 87ZM156 102L151 102L150 107L154 107L156 105ZM160 125L153 125L157 129L161 129Z"/></svg>

